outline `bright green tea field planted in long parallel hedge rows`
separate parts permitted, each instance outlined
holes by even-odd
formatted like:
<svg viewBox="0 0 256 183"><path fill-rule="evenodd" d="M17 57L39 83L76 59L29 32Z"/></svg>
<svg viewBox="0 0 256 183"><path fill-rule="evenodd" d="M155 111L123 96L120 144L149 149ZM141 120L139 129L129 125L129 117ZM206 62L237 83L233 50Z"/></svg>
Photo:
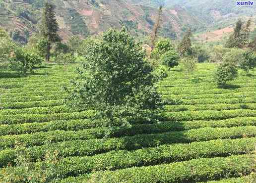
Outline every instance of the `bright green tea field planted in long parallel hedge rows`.
<svg viewBox="0 0 256 183"><path fill-rule="evenodd" d="M108 137L107 127L89 119L94 111L63 103L75 66L46 65L26 78L1 69L0 167L14 162L19 141L34 161L59 151L64 183L247 182L255 170L256 71L239 71L220 89L214 67L198 64L189 79L181 66L172 69L159 84L169 100L160 122L117 127Z"/></svg>

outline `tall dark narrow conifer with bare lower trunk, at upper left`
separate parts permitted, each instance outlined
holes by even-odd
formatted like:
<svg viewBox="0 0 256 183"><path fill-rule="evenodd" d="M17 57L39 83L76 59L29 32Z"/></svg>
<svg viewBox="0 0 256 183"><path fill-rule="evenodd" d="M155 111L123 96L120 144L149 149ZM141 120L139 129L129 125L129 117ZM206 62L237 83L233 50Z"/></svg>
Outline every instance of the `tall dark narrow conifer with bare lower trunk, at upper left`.
<svg viewBox="0 0 256 183"><path fill-rule="evenodd" d="M46 60L50 60L51 44L59 42L61 39L58 35L59 26L55 17L54 6L46 3L43 11L42 24L40 32L47 40Z"/></svg>

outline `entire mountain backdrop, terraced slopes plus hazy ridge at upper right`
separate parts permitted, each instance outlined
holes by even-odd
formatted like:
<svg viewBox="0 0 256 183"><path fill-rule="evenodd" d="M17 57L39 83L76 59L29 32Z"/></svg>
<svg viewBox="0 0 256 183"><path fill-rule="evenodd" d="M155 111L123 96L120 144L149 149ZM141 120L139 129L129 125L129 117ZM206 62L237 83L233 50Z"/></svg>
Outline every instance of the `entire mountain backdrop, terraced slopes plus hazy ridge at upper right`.
<svg viewBox="0 0 256 183"><path fill-rule="evenodd" d="M199 32L225 27L237 18L255 15L256 6L237 7L235 0L48 0L56 6L60 35L87 37L109 27L126 27L133 35L148 35L158 7L164 5L160 34L180 38L192 28ZM38 31L45 0L0 0L0 26L22 34Z"/></svg>

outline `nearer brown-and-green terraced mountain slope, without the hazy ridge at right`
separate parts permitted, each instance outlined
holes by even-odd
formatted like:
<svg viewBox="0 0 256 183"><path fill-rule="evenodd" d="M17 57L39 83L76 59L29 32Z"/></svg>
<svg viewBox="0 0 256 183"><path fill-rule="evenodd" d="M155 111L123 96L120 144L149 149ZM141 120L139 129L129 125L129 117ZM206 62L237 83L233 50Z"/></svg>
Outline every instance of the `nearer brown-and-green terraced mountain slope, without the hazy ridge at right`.
<svg viewBox="0 0 256 183"><path fill-rule="evenodd" d="M154 25L157 7L142 5L132 0L49 0L56 6L60 34L65 40L70 35L86 37L100 34L109 27L125 26L133 35L146 35ZM21 32L37 30L43 0L12 0L1 5L0 26ZM34 14L37 12L37 15ZM181 36L186 26L201 22L181 6L163 11L161 34L171 38Z"/></svg>

